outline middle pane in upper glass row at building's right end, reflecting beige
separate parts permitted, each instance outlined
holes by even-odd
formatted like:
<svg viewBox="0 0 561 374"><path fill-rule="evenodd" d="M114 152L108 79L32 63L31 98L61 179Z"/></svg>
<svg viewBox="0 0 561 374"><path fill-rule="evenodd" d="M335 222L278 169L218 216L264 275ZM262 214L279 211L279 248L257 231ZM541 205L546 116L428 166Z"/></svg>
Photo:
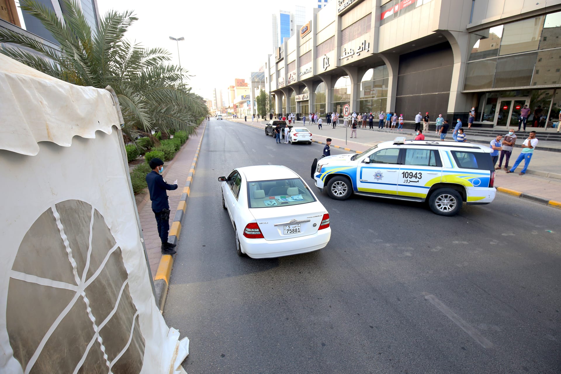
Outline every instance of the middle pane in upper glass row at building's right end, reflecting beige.
<svg viewBox="0 0 561 374"><path fill-rule="evenodd" d="M505 24L499 56L536 50L543 25L544 16Z"/></svg>

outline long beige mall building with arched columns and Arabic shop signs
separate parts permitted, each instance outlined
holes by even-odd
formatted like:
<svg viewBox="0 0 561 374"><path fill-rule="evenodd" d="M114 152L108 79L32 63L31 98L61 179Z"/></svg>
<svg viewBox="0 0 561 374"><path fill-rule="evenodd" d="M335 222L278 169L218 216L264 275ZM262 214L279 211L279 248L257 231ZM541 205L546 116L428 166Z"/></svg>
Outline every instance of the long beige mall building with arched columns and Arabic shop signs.
<svg viewBox="0 0 561 374"><path fill-rule="evenodd" d="M561 109L561 0L338 0L268 57L272 112L518 124ZM532 116L530 116L532 121Z"/></svg>

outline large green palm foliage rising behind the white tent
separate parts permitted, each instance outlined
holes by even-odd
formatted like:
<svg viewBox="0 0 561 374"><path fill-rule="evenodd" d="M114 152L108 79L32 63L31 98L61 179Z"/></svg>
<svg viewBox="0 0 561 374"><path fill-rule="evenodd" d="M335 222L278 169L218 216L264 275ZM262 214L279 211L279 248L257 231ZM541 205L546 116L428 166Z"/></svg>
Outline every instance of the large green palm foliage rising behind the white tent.
<svg viewBox="0 0 561 374"><path fill-rule="evenodd" d="M134 139L151 131L192 133L197 119L208 114L203 98L182 83L187 71L169 64L171 54L162 48L146 49L131 44L125 33L137 18L131 11L109 11L99 31L91 30L76 0L63 0L63 21L34 0L21 0L21 8L38 19L60 44L50 48L25 35L0 30L0 43L13 43L25 49L6 47L0 53L72 84L104 88L116 92L125 119L123 133Z"/></svg>

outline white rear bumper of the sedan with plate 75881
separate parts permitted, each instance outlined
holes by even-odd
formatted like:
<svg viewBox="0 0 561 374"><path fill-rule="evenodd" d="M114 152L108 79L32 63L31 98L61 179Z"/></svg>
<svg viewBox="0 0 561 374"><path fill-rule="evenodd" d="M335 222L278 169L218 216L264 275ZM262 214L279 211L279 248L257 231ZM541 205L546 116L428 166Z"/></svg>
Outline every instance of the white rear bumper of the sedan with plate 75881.
<svg viewBox="0 0 561 374"><path fill-rule="evenodd" d="M251 258L272 258L320 250L327 246L330 238L331 228L328 227L312 235L279 240L248 239L240 236L240 244L242 252Z"/></svg>

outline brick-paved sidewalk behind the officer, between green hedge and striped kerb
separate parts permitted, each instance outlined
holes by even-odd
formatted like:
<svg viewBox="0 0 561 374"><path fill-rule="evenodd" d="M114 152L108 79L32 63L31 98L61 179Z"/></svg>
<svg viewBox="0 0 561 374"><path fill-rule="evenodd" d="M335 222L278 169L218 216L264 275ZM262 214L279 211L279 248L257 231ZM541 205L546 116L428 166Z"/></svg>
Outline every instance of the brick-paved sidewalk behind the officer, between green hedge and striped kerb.
<svg viewBox="0 0 561 374"><path fill-rule="evenodd" d="M200 124L197 128L197 133L191 135L187 142L181 147L180 151L176 154L173 160L168 161L164 164L163 177L168 183L172 183L177 179L178 188L174 191L168 191L169 196L169 207L172 210L170 215L170 227L171 221L173 220L173 214L180 201L181 194L183 193L183 186L187 181L187 174L191 169L191 164L195 153L197 151L197 146L199 145L200 137L203 135L204 129L206 127L206 120ZM162 257L162 252L160 246L162 242L158 236L156 219L154 217L154 212L152 211L150 196L146 196L144 201L142 201L138 206L140 225L142 227L142 235L144 236L144 245L146 246L146 253L148 253L148 261L150 262L150 270L152 276L156 274L158 270L158 265L160 263L160 257Z"/></svg>

